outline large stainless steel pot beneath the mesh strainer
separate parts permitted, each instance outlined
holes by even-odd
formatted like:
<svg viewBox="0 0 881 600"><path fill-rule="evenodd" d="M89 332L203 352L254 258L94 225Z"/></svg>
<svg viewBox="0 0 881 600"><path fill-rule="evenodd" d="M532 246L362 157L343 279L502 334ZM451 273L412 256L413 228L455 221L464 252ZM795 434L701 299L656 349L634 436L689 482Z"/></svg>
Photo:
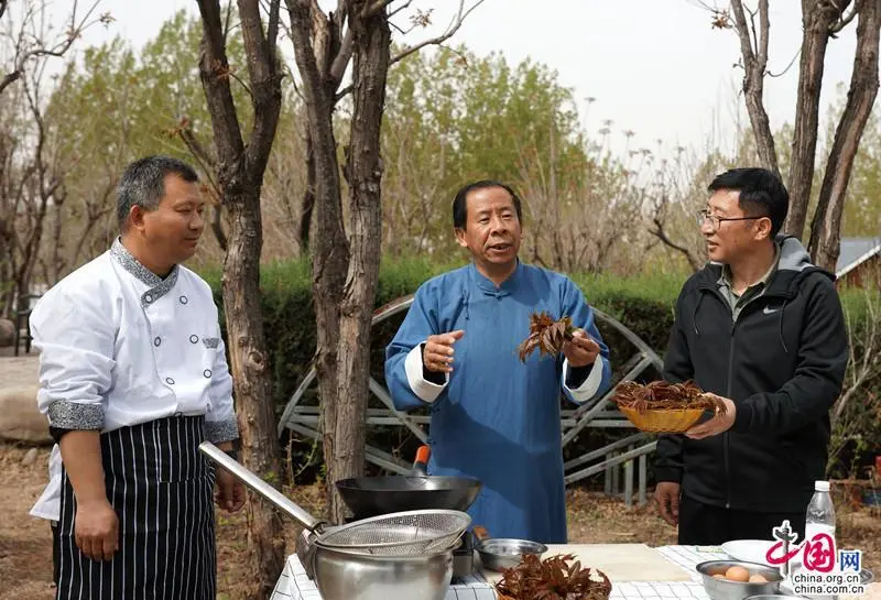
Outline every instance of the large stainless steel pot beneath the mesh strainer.
<svg viewBox="0 0 881 600"><path fill-rule="evenodd" d="M453 548L420 556L359 554L314 545L315 585L324 600L443 600Z"/></svg>

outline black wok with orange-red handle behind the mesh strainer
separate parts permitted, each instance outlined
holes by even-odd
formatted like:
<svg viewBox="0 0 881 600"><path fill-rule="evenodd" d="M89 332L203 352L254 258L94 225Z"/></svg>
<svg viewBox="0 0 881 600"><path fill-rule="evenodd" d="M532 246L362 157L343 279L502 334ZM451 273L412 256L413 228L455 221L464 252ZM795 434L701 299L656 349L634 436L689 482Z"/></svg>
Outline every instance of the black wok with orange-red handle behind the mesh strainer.
<svg viewBox="0 0 881 600"><path fill-rule="evenodd" d="M429 454L427 446L420 447L411 476L342 479L337 490L356 519L433 509L466 511L480 492L480 481L425 474Z"/></svg>

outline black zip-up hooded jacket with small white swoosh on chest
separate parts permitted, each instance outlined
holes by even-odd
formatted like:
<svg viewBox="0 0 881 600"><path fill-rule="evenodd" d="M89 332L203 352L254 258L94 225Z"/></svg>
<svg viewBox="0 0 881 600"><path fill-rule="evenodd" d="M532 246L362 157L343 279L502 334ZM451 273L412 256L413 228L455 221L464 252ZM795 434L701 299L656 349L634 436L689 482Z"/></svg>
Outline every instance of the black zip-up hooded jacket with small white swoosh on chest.
<svg viewBox="0 0 881 600"><path fill-rule="evenodd" d="M781 238L777 270L737 320L719 292L721 266L684 285L664 378L731 399L733 426L694 440L659 438L657 481L698 502L751 512L803 512L824 479L829 408L841 392L848 338L834 276L795 238Z"/></svg>

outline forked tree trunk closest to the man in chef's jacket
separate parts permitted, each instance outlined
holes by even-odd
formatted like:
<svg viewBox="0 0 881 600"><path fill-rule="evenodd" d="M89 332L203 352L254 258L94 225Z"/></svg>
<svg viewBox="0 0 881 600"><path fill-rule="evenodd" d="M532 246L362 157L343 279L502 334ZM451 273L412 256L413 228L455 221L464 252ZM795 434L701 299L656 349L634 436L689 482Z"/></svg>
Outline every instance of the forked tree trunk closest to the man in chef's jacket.
<svg viewBox="0 0 881 600"><path fill-rule="evenodd" d="M260 253L263 244L260 190L281 110L281 76L275 55L279 0L271 2L267 32L258 0L239 0L254 122L246 145L232 94L226 36L218 0L199 0L203 20L199 76L211 114L221 204L229 210L229 244L224 261L224 306L236 392L242 458L260 478L279 481L279 444L272 410L263 316ZM284 537L275 509L250 501L248 539L258 587L251 598L268 598L284 566Z"/></svg>

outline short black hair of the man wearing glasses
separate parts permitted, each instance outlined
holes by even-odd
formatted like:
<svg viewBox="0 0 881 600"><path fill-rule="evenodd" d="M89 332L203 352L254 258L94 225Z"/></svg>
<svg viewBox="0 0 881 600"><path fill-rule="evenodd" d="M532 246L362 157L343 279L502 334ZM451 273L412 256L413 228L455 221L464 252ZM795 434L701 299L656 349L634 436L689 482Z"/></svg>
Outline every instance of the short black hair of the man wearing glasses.
<svg viewBox="0 0 881 600"><path fill-rule="evenodd" d="M707 188L709 192L736 189L740 194L738 204L748 217L769 217L771 219L771 238L783 228L786 214L790 211L790 193L786 186L766 168L742 167L731 168L717 175Z"/></svg>

